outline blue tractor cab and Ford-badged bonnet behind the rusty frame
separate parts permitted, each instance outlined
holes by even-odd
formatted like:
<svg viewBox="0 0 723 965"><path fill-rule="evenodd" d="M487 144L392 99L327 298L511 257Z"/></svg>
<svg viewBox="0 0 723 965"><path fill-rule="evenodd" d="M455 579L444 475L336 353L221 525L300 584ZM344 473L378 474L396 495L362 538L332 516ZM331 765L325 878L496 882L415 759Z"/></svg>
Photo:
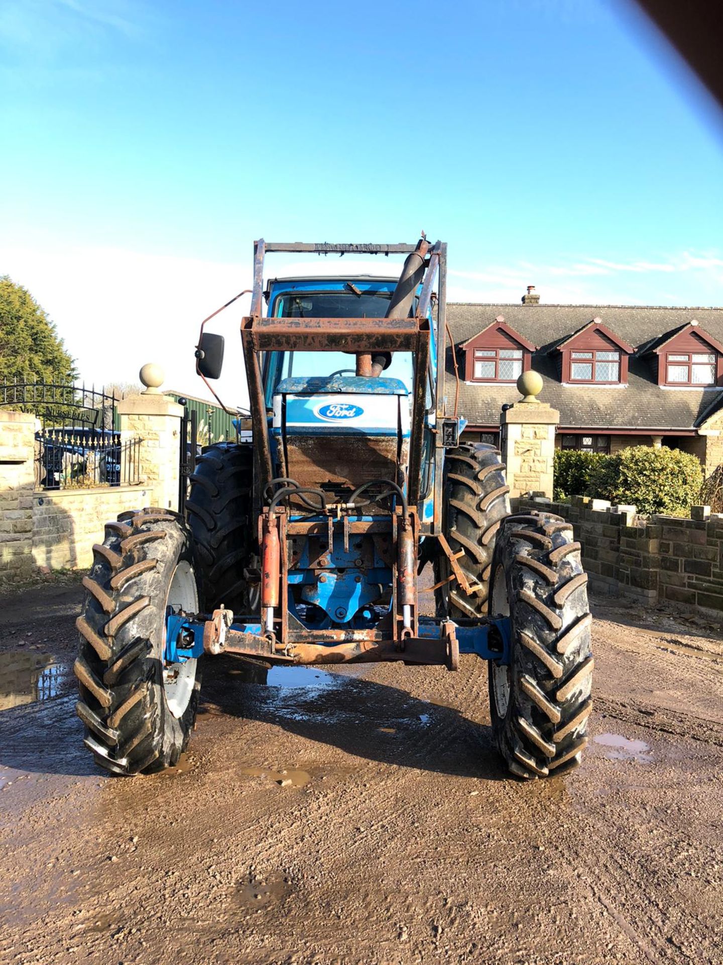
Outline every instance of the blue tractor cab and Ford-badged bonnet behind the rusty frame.
<svg viewBox="0 0 723 965"><path fill-rule="evenodd" d="M371 276L275 279L266 291L268 315L384 317L396 284L397 279ZM363 348L361 338L354 349L272 351L263 366L264 398L267 411L273 413L276 475L318 486L336 502L344 502L364 483L391 480L405 490L407 486L414 354L379 353L383 371L360 374L359 357L365 353L356 351L357 347ZM428 412L435 364L432 351L425 400ZM427 420L427 435L429 426ZM425 449L429 482L429 439ZM431 502L429 510L431 514Z"/></svg>

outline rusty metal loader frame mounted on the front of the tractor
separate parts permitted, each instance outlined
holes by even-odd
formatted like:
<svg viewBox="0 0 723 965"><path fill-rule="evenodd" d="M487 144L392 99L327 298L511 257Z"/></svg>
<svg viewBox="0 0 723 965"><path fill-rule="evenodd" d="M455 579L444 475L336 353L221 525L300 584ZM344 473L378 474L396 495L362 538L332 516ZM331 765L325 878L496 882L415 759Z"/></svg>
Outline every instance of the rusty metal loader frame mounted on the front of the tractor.
<svg viewBox="0 0 723 965"><path fill-rule="evenodd" d="M268 427L268 410L266 396L262 382L262 357L267 351L315 350L315 351L356 351L360 344L369 351L410 351L415 355L415 378L412 390L413 408L411 420L411 438L408 476L408 502L412 526L415 535L415 547L421 533L439 536L442 533L442 471L444 449L441 432L437 427L442 425L444 416L444 369L446 355L446 245L437 242L429 249L425 262L425 274L416 307L415 317L399 318L288 318L263 317L263 269L267 252L316 254L335 253L343 255L355 254L410 254L415 252L416 245L412 244L307 244L307 243L272 243L262 238L254 243L254 289L250 315L242 319L241 340L244 350L244 360L249 386L250 408L254 426L255 473L254 473L254 508L260 514L260 494L265 485L272 479L273 464L271 455L271 439ZM436 427L432 431L435 438L435 512L431 523L420 525L416 515L416 507L421 498L422 457L424 445L424 420L427 407L427 385L430 373L431 331L430 306L433 305L433 290L435 281L439 278L439 300L436 312L437 325L437 372L436 372ZM400 523L397 509L388 521L381 527L374 523L361 520L345 520L345 537L348 532L382 533L391 532L392 544L396 545L397 528ZM259 515L260 519L260 515ZM326 521L333 525L332 518ZM344 629L329 631L310 631L289 625L288 619L288 589L286 574L289 567L287 538L292 534L316 533L324 527L324 523L305 521L292 522L286 514L280 513L280 542L281 542L281 619L276 620L272 649L279 650L288 658L294 650L294 659L303 662L347 661L368 659L405 659L404 649L409 645L411 651L419 650L416 654L418 662L438 662L430 659L429 644L422 643L416 638L417 633L417 596L414 593L412 605L411 635L410 629L404 630L397 587L397 561L392 562L392 605L391 613L373 631L350 631ZM331 539L331 537L330 537ZM416 553L415 553L416 555ZM456 561L454 561L456 564ZM454 564L453 564L454 565ZM463 575L464 579L464 575ZM405 632L408 634L404 639ZM331 646L330 646L331 645ZM252 642L248 639L238 641L237 646L257 646L263 649L266 645ZM451 645L450 645L451 646ZM440 647L438 642L437 647ZM232 644L229 642L229 649ZM299 648L303 648L300 650ZM241 650L239 650L240 652ZM415 660L410 651L409 659ZM423 651L423 658L422 658ZM449 659L449 654L444 661Z"/></svg>

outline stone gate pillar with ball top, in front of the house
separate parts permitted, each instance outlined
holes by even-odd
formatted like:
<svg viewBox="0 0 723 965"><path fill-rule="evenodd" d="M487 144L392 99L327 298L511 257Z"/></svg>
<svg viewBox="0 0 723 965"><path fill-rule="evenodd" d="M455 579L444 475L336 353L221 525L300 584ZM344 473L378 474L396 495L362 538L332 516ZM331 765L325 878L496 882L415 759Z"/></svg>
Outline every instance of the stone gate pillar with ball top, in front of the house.
<svg viewBox="0 0 723 965"><path fill-rule="evenodd" d="M555 427L560 413L538 400L543 388L538 372L522 372L517 387L523 398L500 418L500 450L510 496L541 492L551 499Z"/></svg>

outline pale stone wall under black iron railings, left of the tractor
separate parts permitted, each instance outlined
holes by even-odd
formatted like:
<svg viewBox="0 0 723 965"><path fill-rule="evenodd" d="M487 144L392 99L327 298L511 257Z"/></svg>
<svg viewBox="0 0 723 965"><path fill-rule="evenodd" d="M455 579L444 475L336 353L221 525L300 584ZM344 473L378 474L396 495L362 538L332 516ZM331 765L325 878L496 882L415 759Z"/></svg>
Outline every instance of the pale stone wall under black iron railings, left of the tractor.
<svg viewBox="0 0 723 965"><path fill-rule="evenodd" d="M49 569L84 569L104 526L124 510L142 510L149 491L140 486L45 490L33 494L32 560Z"/></svg>

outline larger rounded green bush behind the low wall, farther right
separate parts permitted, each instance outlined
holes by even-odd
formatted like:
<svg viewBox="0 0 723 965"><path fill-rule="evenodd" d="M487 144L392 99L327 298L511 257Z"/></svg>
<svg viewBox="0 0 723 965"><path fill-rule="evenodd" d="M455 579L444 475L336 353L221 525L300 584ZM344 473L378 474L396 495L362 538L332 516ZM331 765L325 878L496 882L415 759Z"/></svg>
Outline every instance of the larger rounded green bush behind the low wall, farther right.
<svg viewBox="0 0 723 965"><path fill-rule="evenodd" d="M646 514L687 514L698 503L702 484L703 470L694 455L667 446L630 446L595 464L586 495L631 503Z"/></svg>

